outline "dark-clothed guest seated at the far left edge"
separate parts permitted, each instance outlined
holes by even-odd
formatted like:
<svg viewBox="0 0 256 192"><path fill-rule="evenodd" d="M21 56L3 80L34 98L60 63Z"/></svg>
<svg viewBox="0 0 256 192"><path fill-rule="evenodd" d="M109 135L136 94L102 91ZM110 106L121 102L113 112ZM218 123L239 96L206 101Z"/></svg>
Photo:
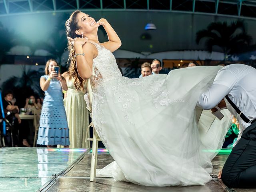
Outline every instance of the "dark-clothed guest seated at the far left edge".
<svg viewBox="0 0 256 192"><path fill-rule="evenodd" d="M26 147L30 147L27 141L28 137L28 126L26 124L22 123L20 116L18 114L19 108L18 106L14 105L11 101L13 99L13 93L12 91L7 91L4 94L4 100L3 100L3 107L4 107L4 113L6 115L6 119L12 124L13 118L14 118L14 124L13 124L13 130L12 130L12 138L14 146L18 146L19 139L22 140L22 145ZM19 136L18 136L18 130L19 130Z"/></svg>

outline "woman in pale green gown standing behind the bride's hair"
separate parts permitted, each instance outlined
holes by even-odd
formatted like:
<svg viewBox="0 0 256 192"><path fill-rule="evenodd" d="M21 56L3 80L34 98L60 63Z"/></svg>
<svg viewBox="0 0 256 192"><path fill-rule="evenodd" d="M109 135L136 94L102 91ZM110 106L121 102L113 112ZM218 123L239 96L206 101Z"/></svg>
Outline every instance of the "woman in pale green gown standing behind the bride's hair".
<svg viewBox="0 0 256 192"><path fill-rule="evenodd" d="M74 80L70 78L69 72L64 72L68 90L64 97L64 107L66 110L70 148L89 148L90 142L86 142L86 129L89 125L89 111L84 101L84 91L77 91L74 87ZM86 89L85 89L86 90ZM88 132L88 138L89 138Z"/></svg>

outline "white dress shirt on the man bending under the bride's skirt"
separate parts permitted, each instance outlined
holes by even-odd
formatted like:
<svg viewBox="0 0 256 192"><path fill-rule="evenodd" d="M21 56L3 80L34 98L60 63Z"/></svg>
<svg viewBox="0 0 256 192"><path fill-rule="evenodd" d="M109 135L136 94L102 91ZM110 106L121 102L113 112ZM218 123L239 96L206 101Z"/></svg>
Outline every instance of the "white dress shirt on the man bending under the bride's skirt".
<svg viewBox="0 0 256 192"><path fill-rule="evenodd" d="M244 64L231 64L223 67L212 85L200 96L197 104L203 109L211 109L218 105L226 95L250 121L254 120L256 118L256 69ZM234 144L236 145L250 123L244 122L227 101L226 105L240 124L238 139Z"/></svg>

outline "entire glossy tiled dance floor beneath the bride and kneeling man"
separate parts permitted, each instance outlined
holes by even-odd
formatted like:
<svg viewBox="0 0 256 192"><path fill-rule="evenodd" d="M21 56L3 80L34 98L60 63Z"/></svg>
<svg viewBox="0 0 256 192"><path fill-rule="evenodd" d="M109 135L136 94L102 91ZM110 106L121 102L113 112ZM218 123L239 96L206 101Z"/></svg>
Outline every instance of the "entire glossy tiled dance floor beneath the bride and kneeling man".
<svg viewBox="0 0 256 192"><path fill-rule="evenodd" d="M214 178L229 151L222 150L212 161ZM256 189L230 189L214 178L205 186L146 187L113 178L90 182L89 149L0 148L0 191L4 192L256 192ZM107 150L99 149L98 168L111 163Z"/></svg>

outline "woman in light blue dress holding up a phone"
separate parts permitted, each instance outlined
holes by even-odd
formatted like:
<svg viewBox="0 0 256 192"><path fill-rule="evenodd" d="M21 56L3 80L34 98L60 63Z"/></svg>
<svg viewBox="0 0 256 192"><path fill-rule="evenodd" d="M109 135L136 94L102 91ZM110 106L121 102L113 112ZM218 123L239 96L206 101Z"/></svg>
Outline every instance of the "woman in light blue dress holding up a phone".
<svg viewBox="0 0 256 192"><path fill-rule="evenodd" d="M60 144L68 147L70 145L69 130L62 98L62 89L68 90L68 87L66 80L54 70L56 66L58 66L56 60L48 60L45 66L46 75L40 78L40 87L45 96L37 144L47 145L47 147Z"/></svg>

